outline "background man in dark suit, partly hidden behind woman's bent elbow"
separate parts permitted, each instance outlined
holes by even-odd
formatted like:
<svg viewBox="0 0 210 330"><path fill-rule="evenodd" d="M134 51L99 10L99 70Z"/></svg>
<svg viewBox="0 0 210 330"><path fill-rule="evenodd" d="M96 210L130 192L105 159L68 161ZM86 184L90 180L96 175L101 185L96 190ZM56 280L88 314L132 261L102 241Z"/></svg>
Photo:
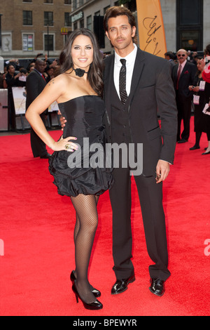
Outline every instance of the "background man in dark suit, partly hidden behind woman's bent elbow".
<svg viewBox="0 0 210 330"><path fill-rule="evenodd" d="M29 105L35 100L35 98L43 91L43 88L46 86L46 81L43 76L45 71L45 62L38 58L35 62L34 70L28 75L26 90L27 90L27 99L26 99L26 108L28 109ZM48 110L45 110L41 114L41 119L45 122L45 115ZM45 143L39 138L31 128L31 150L34 157L40 158L49 158L51 155L48 154L46 150Z"/></svg>

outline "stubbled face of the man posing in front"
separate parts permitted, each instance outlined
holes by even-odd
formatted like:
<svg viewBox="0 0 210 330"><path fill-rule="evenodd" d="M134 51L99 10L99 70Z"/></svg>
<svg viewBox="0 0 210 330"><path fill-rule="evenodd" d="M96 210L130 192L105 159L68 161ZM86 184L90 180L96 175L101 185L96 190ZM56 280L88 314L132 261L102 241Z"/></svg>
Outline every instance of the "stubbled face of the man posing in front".
<svg viewBox="0 0 210 330"><path fill-rule="evenodd" d="M126 15L109 18L106 36L117 53L118 50L126 50L127 53L130 53L133 48L132 37L134 37L135 33L136 27L131 27Z"/></svg>

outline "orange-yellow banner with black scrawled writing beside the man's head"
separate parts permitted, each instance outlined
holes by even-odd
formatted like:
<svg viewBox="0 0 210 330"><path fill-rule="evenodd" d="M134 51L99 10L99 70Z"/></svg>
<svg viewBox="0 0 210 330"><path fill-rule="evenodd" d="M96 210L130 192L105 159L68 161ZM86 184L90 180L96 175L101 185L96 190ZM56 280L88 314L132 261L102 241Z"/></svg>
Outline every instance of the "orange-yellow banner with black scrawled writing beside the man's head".
<svg viewBox="0 0 210 330"><path fill-rule="evenodd" d="M160 0L137 0L137 18L141 50L165 58L167 46Z"/></svg>

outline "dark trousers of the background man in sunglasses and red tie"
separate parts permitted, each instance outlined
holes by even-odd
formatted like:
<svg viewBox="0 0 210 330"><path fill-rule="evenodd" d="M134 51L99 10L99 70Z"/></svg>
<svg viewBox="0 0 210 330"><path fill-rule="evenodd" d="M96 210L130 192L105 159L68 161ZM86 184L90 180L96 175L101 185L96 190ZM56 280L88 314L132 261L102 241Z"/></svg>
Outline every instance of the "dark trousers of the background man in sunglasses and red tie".
<svg viewBox="0 0 210 330"><path fill-rule="evenodd" d="M190 136L191 98L184 98L176 91L176 105L178 110L177 140L188 140ZM183 119L183 132L181 133L181 119Z"/></svg>

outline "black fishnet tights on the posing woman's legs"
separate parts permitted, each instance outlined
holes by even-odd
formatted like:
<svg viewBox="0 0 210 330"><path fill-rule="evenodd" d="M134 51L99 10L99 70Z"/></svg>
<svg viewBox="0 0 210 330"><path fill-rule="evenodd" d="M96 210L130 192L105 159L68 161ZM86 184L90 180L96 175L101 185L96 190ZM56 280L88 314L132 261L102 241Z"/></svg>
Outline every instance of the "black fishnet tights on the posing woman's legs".
<svg viewBox="0 0 210 330"><path fill-rule="evenodd" d="M92 194L78 194L71 197L71 202L76 210L76 225L74 228L75 262L76 262L76 289L85 303L96 301L87 279L90 255L94 235L97 230L98 214L97 202L99 197Z"/></svg>

